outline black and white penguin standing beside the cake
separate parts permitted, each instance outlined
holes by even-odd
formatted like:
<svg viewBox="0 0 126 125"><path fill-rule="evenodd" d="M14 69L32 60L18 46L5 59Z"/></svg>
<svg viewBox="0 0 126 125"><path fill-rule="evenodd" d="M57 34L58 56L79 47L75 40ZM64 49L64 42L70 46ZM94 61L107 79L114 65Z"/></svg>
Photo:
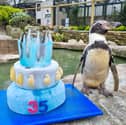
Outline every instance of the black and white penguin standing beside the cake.
<svg viewBox="0 0 126 125"><path fill-rule="evenodd" d="M99 93L106 97L113 95L106 90L104 84L109 69L111 69L114 78L114 91L117 91L119 88L118 72L114 64L112 51L107 45L105 38L105 34L110 28L109 22L105 20L97 21L90 28L89 43L83 51L79 64L81 65L83 82L82 92L87 95L91 92L90 88L97 88Z"/></svg>

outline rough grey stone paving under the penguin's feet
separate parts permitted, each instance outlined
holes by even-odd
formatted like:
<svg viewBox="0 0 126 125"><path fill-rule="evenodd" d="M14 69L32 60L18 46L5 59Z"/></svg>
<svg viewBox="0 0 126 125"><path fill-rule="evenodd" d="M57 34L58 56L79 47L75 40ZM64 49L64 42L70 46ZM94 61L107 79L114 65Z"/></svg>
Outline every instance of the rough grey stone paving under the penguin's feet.
<svg viewBox="0 0 126 125"><path fill-rule="evenodd" d="M103 116L97 116L89 119L81 119L69 123L56 125L126 125L126 64L117 65L119 73L119 91L113 92L113 97L104 97L97 90L93 89L88 97L104 112ZM73 75L63 78L65 83L71 83ZM75 86L80 90L82 87L81 75L77 75ZM113 78L111 72L106 81L106 88L113 91Z"/></svg>

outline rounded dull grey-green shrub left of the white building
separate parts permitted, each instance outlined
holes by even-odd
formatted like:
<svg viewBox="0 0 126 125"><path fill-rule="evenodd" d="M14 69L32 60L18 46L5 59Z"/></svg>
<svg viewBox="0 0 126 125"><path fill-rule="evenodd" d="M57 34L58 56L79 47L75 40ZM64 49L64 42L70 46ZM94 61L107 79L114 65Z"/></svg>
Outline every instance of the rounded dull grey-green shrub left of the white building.
<svg viewBox="0 0 126 125"><path fill-rule="evenodd" d="M9 24L14 27L24 27L28 24L35 24L35 20L24 12L15 13L12 18L9 20Z"/></svg>

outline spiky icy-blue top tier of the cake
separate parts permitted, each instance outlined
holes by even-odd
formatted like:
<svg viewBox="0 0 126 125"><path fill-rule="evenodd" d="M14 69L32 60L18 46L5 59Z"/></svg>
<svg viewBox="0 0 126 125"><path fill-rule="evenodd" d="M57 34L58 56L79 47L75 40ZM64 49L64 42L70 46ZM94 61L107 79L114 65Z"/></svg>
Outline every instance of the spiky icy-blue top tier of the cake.
<svg viewBox="0 0 126 125"><path fill-rule="evenodd" d="M45 67L51 63L52 37L49 31L31 30L24 32L18 40L18 50L21 65Z"/></svg>

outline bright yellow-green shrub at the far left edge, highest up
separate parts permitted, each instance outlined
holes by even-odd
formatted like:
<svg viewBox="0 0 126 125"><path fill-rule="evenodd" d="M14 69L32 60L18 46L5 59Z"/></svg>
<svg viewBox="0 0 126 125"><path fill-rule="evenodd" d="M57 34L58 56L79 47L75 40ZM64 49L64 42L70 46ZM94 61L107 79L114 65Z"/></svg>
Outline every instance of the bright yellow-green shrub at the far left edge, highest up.
<svg viewBox="0 0 126 125"><path fill-rule="evenodd" d="M0 6L0 24L7 25L11 19L11 16L14 13L21 11L21 9L13 8L11 6Z"/></svg>

